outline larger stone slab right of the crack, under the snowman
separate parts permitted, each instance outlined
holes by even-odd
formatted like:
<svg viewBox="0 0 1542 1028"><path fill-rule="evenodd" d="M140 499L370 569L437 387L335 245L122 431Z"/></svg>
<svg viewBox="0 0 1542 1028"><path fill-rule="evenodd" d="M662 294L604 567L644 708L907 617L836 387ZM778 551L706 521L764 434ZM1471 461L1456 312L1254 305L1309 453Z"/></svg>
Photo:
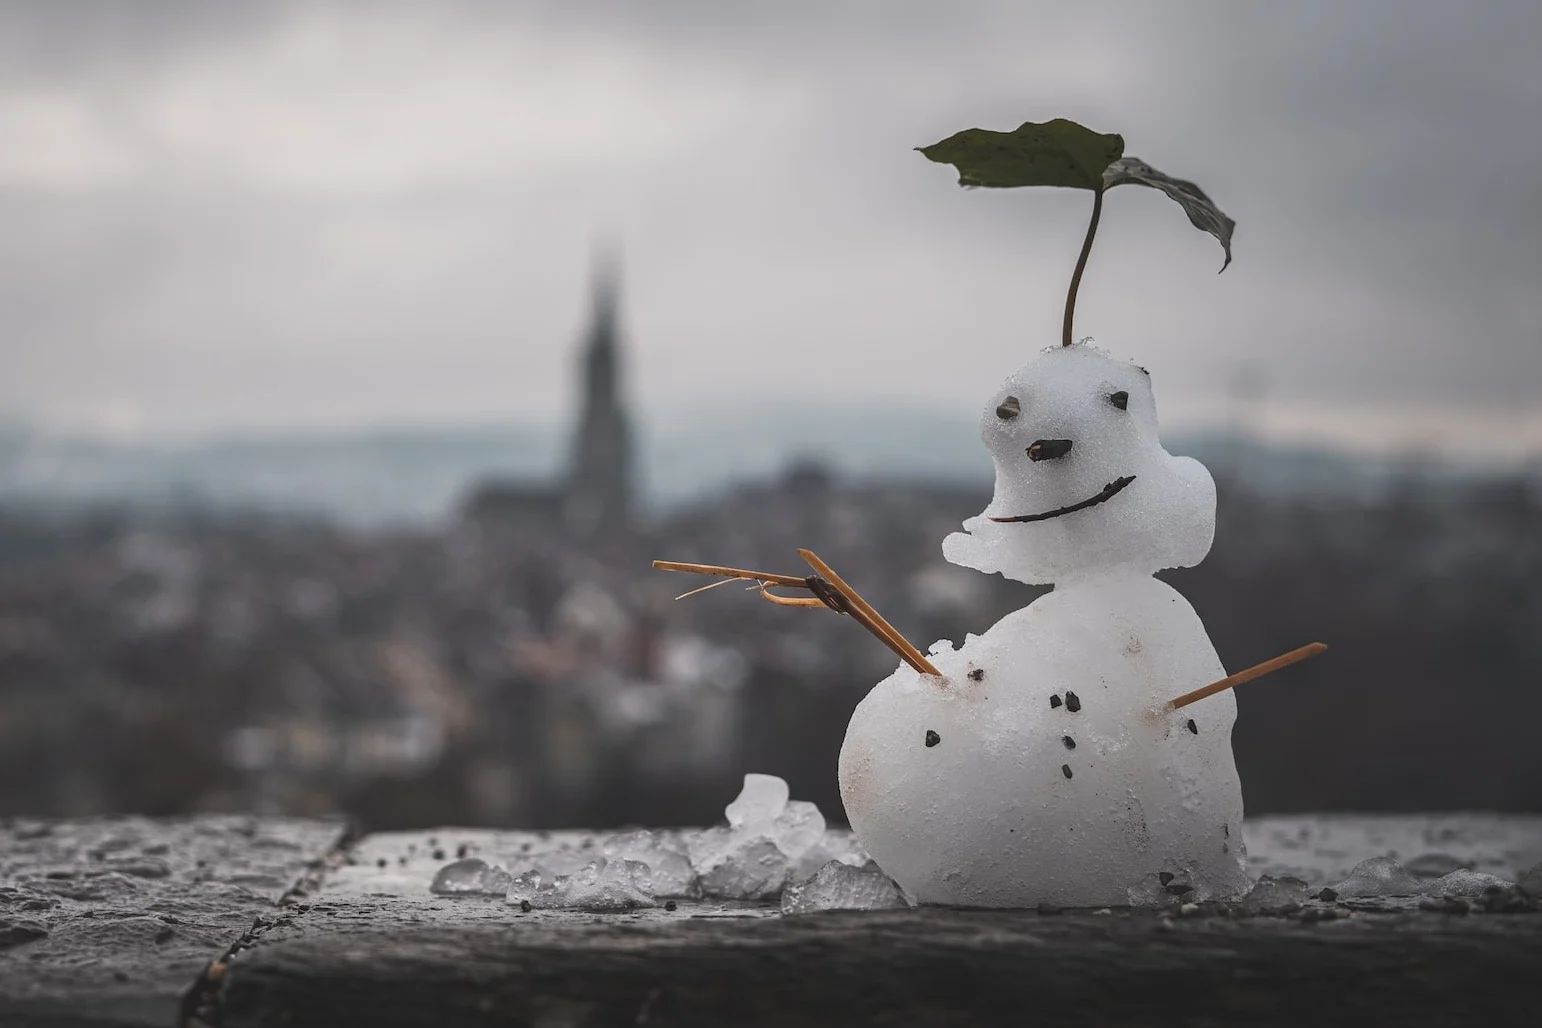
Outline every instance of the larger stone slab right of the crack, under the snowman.
<svg viewBox="0 0 1542 1028"><path fill-rule="evenodd" d="M1439 848L1511 877L1542 854L1537 817L1266 818L1246 835L1254 874L1314 888L1389 848ZM680 902L597 915L429 892L463 848L515 871L532 854L603 845L577 832L370 837L305 917L231 966L222 1023L1502 1025L1542 1011L1534 912L1309 900L1278 917L1217 905L780 917Z"/></svg>

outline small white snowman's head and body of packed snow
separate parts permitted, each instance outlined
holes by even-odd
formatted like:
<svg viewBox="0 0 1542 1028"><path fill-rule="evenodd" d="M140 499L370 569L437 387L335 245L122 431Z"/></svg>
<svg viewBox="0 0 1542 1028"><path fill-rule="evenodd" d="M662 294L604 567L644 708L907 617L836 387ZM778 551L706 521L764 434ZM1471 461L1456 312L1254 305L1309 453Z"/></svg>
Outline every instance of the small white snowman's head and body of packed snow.
<svg viewBox="0 0 1542 1028"><path fill-rule="evenodd" d="M1152 578L1197 563L1215 516L1209 473L1155 427L1144 371L1084 345L1044 354L987 407L996 496L944 552L1056 587L934 647L941 681L902 666L879 683L840 751L857 838L914 900L1104 906L1163 872L1186 899L1247 888L1235 700L1163 709L1224 670L1189 603ZM990 519L1021 515L1035 519Z"/></svg>

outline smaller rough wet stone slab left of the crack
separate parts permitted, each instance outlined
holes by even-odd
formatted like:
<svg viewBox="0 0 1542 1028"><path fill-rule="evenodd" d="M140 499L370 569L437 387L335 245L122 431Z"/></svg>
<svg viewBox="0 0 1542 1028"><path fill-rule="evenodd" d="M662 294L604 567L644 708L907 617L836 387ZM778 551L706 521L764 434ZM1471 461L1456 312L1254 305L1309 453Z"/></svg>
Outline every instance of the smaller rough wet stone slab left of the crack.
<svg viewBox="0 0 1542 1028"><path fill-rule="evenodd" d="M341 837L248 817L0 823L0 1025L177 1023L205 965Z"/></svg>

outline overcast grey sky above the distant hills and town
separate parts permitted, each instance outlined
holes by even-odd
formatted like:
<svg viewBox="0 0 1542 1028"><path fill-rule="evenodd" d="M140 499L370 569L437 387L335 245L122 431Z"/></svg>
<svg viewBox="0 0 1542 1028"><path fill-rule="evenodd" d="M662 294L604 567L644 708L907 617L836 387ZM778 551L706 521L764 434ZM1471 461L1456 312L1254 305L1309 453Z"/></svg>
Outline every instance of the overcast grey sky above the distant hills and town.
<svg viewBox="0 0 1542 1028"><path fill-rule="evenodd" d="M1536 0L0 0L0 422L549 419L595 240L655 422L973 418L1058 339L1090 196L911 148L1064 116L1238 222L1217 276L1109 196L1076 334L1164 424L1246 375L1274 435L1536 448L1539 51Z"/></svg>

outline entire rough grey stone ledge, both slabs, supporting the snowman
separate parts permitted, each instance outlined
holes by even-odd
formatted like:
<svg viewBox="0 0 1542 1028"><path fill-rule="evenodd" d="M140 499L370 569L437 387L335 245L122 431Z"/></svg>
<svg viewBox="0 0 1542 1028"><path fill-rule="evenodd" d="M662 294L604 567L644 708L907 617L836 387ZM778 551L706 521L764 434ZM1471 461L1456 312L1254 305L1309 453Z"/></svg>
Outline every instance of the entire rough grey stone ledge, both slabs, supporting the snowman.
<svg viewBox="0 0 1542 1028"><path fill-rule="evenodd" d="M0 1025L1539 1020L1542 914L1523 892L1352 909L1315 895L1394 852L1516 880L1542 860L1542 817L1264 818L1244 832L1254 874L1308 882L1305 903L521 912L429 885L463 857L581 866L606 835L441 829L339 846L339 826L316 821L11 821Z"/></svg>

